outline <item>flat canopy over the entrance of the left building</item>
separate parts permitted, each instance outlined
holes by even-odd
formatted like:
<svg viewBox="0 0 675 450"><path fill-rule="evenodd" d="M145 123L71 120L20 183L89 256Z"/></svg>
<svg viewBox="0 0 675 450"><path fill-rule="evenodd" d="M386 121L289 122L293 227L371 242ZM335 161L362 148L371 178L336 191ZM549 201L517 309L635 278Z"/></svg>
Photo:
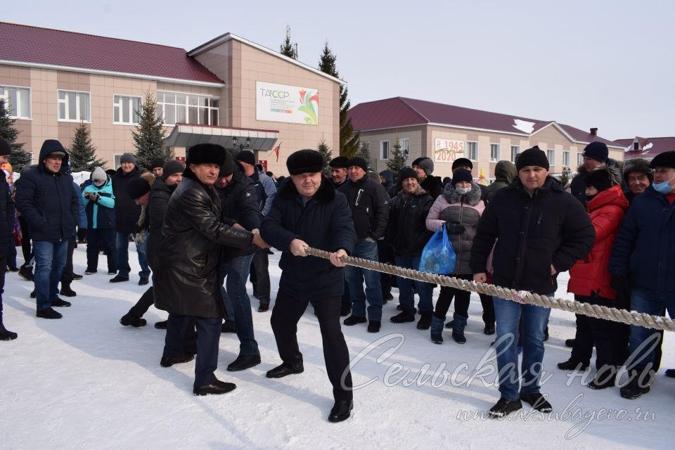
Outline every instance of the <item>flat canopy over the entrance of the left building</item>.
<svg viewBox="0 0 675 450"><path fill-rule="evenodd" d="M278 137L279 131L274 129L176 124L164 144L167 147L191 147L198 143L217 143L228 150L269 152Z"/></svg>

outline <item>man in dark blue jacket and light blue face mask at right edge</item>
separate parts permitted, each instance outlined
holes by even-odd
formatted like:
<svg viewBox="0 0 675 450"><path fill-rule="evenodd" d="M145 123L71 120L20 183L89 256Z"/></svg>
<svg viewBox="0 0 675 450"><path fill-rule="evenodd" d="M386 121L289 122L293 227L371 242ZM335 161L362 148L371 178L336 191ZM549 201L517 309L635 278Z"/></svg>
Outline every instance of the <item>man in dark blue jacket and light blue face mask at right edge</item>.
<svg viewBox="0 0 675 450"><path fill-rule="evenodd" d="M675 151L657 155L650 167L654 183L628 210L612 249L612 288L621 296L631 290L631 310L675 317ZM654 377L654 350L659 332L631 325L626 361L631 378L620 392L636 399L649 392Z"/></svg>

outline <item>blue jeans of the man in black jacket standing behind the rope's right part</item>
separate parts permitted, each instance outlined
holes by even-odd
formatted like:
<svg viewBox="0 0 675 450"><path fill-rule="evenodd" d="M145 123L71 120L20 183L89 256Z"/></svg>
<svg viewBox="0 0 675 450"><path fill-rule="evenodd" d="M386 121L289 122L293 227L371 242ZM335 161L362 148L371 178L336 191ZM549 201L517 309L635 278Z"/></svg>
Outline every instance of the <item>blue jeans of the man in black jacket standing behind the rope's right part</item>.
<svg viewBox="0 0 675 450"><path fill-rule="evenodd" d="M547 294L553 296L553 294ZM497 326L499 392L507 400L518 400L520 393L539 392L544 361L544 330L548 326L550 308L520 304L494 297ZM522 315L522 365L518 373L518 323ZM522 376L522 387L520 377ZM520 388L520 389L519 389Z"/></svg>

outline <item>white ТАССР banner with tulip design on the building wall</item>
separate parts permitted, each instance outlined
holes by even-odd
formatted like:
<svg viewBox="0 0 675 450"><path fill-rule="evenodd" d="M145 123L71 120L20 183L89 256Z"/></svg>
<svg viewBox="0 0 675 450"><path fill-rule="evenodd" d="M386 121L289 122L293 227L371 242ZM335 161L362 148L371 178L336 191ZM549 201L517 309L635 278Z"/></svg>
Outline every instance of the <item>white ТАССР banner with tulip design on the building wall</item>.
<svg viewBox="0 0 675 450"><path fill-rule="evenodd" d="M319 91L255 82L255 118L292 124L319 124Z"/></svg>

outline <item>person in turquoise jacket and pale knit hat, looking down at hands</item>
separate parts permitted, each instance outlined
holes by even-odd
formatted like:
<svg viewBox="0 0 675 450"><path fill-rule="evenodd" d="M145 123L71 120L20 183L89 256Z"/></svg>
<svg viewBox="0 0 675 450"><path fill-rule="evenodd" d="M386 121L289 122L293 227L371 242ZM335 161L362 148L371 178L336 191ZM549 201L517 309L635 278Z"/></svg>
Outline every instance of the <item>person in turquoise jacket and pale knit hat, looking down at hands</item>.
<svg viewBox="0 0 675 450"><path fill-rule="evenodd" d="M91 172L91 184L84 188L84 211L86 212L86 271L96 274L98 250L108 257L108 274L117 272L115 250L115 195L113 183L101 167Z"/></svg>

